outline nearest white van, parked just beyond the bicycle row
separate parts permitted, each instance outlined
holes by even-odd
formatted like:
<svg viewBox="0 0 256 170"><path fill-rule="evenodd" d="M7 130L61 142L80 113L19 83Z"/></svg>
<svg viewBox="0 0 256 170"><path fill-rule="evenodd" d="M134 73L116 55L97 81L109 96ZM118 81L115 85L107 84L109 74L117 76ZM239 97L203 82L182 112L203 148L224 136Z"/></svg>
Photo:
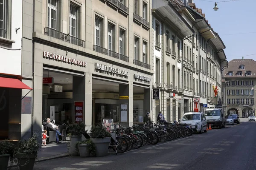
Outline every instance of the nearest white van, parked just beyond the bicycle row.
<svg viewBox="0 0 256 170"><path fill-rule="evenodd" d="M207 132L206 118L203 112L189 112L183 115L182 123L191 124L194 132L203 133Z"/></svg>

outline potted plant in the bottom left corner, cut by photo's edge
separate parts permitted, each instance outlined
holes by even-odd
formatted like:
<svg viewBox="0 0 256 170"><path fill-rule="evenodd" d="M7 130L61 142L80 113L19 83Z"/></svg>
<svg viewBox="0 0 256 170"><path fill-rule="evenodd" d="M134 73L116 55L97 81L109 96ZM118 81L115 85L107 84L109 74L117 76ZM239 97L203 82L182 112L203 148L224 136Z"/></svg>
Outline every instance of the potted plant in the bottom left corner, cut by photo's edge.
<svg viewBox="0 0 256 170"><path fill-rule="evenodd" d="M8 162L12 166L14 162L15 145L9 141L0 141L0 170L7 170Z"/></svg>

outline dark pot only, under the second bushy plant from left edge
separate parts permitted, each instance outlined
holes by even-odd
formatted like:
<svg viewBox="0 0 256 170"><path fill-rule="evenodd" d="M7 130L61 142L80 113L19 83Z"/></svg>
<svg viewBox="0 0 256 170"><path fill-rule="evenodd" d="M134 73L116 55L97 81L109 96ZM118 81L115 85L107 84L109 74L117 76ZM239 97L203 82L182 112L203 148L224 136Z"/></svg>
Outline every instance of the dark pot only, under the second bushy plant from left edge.
<svg viewBox="0 0 256 170"><path fill-rule="evenodd" d="M20 170L33 170L35 164L35 153L17 153L16 158L18 160Z"/></svg>

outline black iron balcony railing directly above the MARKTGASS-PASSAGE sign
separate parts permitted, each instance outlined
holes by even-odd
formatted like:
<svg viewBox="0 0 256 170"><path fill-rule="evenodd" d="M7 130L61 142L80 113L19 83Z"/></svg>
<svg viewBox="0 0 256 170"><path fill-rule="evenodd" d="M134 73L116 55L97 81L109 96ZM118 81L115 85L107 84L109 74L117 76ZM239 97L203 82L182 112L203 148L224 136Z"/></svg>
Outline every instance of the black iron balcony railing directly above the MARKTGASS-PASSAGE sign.
<svg viewBox="0 0 256 170"><path fill-rule="evenodd" d="M101 54L108 55L108 56L116 58L116 59L120 59L122 61L129 62L129 57L127 57L125 55L122 55L122 54L119 54L119 53L116 53L114 51L108 50L108 49L103 48L99 45L93 45L93 51L96 51L96 52L101 53Z"/></svg>

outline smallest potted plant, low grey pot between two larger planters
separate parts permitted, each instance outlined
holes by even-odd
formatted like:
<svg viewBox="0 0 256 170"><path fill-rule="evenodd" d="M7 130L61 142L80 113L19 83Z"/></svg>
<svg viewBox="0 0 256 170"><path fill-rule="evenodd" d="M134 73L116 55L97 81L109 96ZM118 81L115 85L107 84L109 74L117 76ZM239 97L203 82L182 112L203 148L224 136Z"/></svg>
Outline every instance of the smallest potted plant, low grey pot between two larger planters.
<svg viewBox="0 0 256 170"><path fill-rule="evenodd" d="M76 152L80 157L88 157L90 153L95 155L95 144L91 139L76 142Z"/></svg>

